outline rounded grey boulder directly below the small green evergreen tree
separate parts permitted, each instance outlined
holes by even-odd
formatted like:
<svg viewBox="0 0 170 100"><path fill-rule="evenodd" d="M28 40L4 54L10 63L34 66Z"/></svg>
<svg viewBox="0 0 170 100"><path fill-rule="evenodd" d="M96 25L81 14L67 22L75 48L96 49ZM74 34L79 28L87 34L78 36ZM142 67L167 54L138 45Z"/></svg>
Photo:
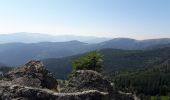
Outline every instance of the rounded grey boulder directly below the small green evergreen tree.
<svg viewBox="0 0 170 100"><path fill-rule="evenodd" d="M109 81L96 71L79 70L69 80L63 92L82 92L86 90L98 90L101 92L112 93L113 88Z"/></svg>

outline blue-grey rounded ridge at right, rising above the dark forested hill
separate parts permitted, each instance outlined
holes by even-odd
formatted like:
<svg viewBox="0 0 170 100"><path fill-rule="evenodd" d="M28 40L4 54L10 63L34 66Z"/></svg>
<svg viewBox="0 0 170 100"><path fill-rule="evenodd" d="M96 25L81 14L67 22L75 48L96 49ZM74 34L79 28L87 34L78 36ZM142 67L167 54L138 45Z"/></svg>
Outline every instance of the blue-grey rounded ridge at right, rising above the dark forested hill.
<svg viewBox="0 0 170 100"><path fill-rule="evenodd" d="M141 50L157 48L170 44L170 38L135 40L130 38L115 38L98 44L99 48L114 48L124 50Z"/></svg>

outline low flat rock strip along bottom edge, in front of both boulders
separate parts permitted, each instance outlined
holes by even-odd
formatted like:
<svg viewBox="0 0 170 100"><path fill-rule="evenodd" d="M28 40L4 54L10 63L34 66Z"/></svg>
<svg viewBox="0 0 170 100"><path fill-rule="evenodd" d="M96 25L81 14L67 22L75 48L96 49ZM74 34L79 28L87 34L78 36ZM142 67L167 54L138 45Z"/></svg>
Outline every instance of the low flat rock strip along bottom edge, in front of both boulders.
<svg viewBox="0 0 170 100"><path fill-rule="evenodd" d="M109 100L107 95L97 90L57 93L47 89L0 82L0 100Z"/></svg>

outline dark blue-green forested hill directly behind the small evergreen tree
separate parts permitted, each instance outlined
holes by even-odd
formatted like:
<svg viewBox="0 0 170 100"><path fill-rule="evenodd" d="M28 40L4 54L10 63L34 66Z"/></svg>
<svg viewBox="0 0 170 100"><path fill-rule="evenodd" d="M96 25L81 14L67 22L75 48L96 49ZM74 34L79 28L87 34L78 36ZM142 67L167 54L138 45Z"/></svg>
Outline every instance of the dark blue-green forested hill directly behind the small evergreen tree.
<svg viewBox="0 0 170 100"><path fill-rule="evenodd" d="M160 48L155 50L118 50L118 49L103 49L100 50L104 55L104 71L114 72L121 69L138 69L153 67L162 64L170 59L170 47ZM67 78L72 71L72 61L82 55L75 55L60 59L44 59L43 62L48 69L55 73L57 78Z"/></svg>

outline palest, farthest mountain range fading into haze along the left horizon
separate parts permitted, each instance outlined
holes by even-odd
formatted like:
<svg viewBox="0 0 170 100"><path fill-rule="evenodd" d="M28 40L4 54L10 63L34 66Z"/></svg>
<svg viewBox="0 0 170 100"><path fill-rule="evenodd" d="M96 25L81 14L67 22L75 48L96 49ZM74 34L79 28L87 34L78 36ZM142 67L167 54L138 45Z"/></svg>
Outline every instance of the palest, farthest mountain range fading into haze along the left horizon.
<svg viewBox="0 0 170 100"><path fill-rule="evenodd" d="M72 40L77 40L85 43L99 43L109 40L109 38L100 38L93 36L74 36L74 35L53 36L41 33L26 33L26 32L0 35L0 43L66 42Z"/></svg>

